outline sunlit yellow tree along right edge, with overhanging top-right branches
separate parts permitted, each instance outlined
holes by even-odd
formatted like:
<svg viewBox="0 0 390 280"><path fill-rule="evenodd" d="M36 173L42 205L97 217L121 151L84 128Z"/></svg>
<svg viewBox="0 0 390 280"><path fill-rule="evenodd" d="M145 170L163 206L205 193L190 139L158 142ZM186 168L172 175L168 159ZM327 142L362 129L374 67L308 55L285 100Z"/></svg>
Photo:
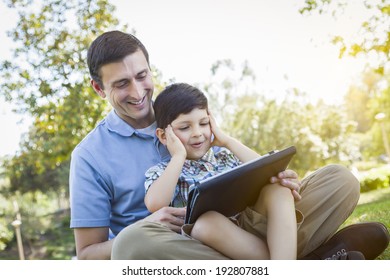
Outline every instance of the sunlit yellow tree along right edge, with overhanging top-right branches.
<svg viewBox="0 0 390 280"><path fill-rule="evenodd" d="M332 13L342 16L347 0L305 0L302 14ZM335 35L333 43L340 47L340 57L362 55L376 57L375 64L368 64L360 84L351 87L345 97L348 114L358 123L361 151L366 159L386 154L384 135L390 135L390 2L385 0L361 0L370 13L362 19L359 35L354 42L347 43ZM341 12L338 12L341 10ZM378 123L376 116L383 118Z"/></svg>

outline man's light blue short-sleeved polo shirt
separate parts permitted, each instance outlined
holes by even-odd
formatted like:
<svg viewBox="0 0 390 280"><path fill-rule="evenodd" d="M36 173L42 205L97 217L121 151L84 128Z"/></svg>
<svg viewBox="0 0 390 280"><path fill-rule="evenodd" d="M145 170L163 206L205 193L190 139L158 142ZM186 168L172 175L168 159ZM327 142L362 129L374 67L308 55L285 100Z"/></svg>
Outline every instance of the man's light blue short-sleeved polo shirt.
<svg viewBox="0 0 390 280"><path fill-rule="evenodd" d="M72 152L70 227L110 227L117 235L149 215L145 171L169 157L156 136L137 131L112 110Z"/></svg>

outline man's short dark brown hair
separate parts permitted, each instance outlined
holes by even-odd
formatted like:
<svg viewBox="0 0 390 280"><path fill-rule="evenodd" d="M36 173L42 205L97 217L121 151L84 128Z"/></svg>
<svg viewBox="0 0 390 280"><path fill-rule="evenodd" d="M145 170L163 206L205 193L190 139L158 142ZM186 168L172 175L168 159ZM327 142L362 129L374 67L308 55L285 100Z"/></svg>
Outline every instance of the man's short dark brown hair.
<svg viewBox="0 0 390 280"><path fill-rule="evenodd" d="M100 68L111 62L121 61L129 54L141 50L149 64L149 54L145 46L135 36L122 31L108 31L97 37L87 53L87 63L91 78L103 88Z"/></svg>

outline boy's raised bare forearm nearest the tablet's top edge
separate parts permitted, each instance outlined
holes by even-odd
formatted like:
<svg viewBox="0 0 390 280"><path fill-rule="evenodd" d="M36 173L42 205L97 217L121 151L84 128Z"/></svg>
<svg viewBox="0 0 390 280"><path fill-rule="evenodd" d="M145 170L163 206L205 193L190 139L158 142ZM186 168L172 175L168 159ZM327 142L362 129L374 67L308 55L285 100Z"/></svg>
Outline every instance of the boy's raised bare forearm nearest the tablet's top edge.
<svg viewBox="0 0 390 280"><path fill-rule="evenodd" d="M214 134L214 141L212 145L229 149L241 162L247 162L260 156L258 153L248 148L237 139L225 134L222 130L220 130L215 122L213 115L211 113L209 113L209 115L211 130Z"/></svg>

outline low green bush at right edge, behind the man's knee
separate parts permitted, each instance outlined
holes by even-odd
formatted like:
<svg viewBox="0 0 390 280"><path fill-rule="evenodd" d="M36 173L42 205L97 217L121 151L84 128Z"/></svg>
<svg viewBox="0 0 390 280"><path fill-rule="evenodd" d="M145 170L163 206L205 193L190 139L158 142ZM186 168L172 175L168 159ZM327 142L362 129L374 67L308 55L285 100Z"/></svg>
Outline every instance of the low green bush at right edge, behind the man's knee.
<svg viewBox="0 0 390 280"><path fill-rule="evenodd" d="M373 168L360 177L360 192L368 192L390 187L390 165Z"/></svg>

